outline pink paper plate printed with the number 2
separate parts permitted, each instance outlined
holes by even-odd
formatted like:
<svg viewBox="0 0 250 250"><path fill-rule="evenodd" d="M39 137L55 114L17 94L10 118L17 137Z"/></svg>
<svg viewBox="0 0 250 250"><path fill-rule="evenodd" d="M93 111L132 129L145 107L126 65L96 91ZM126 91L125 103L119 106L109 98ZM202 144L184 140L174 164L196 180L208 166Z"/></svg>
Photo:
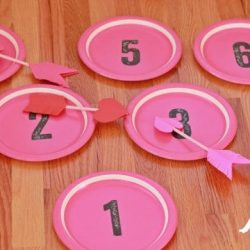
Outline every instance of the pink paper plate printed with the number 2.
<svg viewBox="0 0 250 250"><path fill-rule="evenodd" d="M24 161L47 161L66 156L91 137L95 123L90 112L66 110L57 117L24 113L29 94L64 96L69 105L89 106L73 91L34 84L0 96L0 153Z"/></svg>

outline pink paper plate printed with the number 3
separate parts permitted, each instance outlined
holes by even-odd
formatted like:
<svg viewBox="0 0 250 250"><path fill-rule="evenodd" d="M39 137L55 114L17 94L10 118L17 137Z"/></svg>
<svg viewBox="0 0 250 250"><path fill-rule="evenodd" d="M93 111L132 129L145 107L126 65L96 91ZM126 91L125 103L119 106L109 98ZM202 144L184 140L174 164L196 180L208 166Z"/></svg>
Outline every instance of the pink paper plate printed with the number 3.
<svg viewBox="0 0 250 250"><path fill-rule="evenodd" d="M154 119L177 117L184 133L215 149L234 138L237 120L231 106L218 94L192 84L163 84L147 89L128 105L125 128L131 139L146 151L167 159L195 160L206 152L176 134L154 128Z"/></svg>

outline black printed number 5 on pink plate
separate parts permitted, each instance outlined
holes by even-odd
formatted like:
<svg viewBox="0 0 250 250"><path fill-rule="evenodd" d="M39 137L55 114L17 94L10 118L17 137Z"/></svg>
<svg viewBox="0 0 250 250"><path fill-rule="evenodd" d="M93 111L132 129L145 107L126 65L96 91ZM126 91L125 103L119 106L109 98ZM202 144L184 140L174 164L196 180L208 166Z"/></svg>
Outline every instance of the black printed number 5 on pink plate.
<svg viewBox="0 0 250 250"><path fill-rule="evenodd" d="M129 48L129 44L138 44L138 40L123 40L122 53L133 53L133 59L129 60L128 57L122 57L122 63L125 65L133 66L140 62L140 51L136 48Z"/></svg>

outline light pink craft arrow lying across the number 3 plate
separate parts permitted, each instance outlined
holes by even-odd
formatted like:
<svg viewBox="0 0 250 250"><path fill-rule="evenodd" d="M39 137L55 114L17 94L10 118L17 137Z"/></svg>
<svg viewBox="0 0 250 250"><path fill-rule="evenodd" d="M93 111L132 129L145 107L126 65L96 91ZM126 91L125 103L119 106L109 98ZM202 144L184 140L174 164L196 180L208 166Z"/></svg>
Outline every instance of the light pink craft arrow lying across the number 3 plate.
<svg viewBox="0 0 250 250"><path fill-rule="evenodd" d="M171 133L174 131L205 150L207 152L207 161L224 175L226 175L230 180L232 180L233 164L250 164L249 159L230 150L218 150L207 147L193 137L186 135L184 132L179 130L178 128L180 128L180 126L181 122L176 122L176 120L173 118L156 117L154 120L154 127L157 130L163 133Z"/></svg>

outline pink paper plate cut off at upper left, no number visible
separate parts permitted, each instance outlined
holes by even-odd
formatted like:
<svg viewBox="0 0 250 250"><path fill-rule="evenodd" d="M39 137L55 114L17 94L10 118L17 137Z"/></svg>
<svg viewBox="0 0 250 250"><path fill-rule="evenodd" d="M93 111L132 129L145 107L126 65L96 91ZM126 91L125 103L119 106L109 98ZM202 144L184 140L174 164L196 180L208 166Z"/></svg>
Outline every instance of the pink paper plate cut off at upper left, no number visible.
<svg viewBox="0 0 250 250"><path fill-rule="evenodd" d="M0 25L0 53L23 60L25 47L21 38L10 29ZM22 65L0 58L0 81L14 75Z"/></svg>

